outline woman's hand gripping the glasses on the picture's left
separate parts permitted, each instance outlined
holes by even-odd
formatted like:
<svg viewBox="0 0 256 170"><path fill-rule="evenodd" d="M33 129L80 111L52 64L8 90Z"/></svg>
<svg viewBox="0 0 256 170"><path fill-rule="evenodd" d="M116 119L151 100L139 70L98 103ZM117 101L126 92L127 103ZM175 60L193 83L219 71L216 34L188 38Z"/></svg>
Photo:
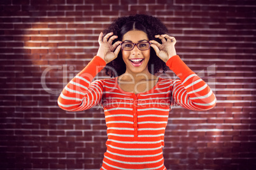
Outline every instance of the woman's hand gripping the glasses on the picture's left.
<svg viewBox="0 0 256 170"><path fill-rule="evenodd" d="M110 39L108 40L109 37ZM122 41L117 41L112 45L114 39L117 39L117 36L113 36L113 32L106 34L106 36L104 37L103 32L99 34L99 49L97 52L97 56L101 57L106 63L109 63L117 58L117 55L121 49L121 46L119 44Z"/></svg>

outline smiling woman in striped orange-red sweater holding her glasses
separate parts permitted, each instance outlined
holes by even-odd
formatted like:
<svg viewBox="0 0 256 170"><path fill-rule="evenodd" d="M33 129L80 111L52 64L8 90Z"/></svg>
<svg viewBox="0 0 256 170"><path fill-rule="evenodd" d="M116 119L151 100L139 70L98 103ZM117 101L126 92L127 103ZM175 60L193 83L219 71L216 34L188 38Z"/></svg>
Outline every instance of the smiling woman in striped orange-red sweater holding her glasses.
<svg viewBox="0 0 256 170"><path fill-rule="evenodd" d="M171 105L208 110L215 95L176 55L176 39L157 18L124 16L104 32L97 56L63 89L59 106L81 111L101 103L108 127L101 169L166 169L162 147ZM104 67L114 78L92 82ZM180 80L153 75L166 67Z"/></svg>

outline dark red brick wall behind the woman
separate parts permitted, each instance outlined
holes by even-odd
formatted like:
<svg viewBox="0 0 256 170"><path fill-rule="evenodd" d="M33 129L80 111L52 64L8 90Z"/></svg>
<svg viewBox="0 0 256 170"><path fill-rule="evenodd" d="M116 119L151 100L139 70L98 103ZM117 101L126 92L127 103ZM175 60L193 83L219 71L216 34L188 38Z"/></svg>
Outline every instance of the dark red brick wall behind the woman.
<svg viewBox="0 0 256 170"><path fill-rule="evenodd" d="M210 84L217 106L174 107L167 169L256 166L255 1L1 0L0 169L99 169L106 150L99 107L65 112L57 97L96 55L117 16L158 16L183 61ZM173 78L175 76L168 72ZM98 79L105 78L103 72Z"/></svg>

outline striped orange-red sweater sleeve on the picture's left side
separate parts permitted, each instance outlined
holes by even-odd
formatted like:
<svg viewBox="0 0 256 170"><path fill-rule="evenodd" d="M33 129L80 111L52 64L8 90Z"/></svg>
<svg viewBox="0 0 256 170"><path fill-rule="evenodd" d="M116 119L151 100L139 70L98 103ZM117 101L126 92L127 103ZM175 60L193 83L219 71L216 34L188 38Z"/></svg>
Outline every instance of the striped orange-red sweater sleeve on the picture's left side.
<svg viewBox="0 0 256 170"><path fill-rule="evenodd" d="M62 90L58 98L59 107L68 111L81 111L101 102L103 82L92 80L105 65L102 58L95 56Z"/></svg>

